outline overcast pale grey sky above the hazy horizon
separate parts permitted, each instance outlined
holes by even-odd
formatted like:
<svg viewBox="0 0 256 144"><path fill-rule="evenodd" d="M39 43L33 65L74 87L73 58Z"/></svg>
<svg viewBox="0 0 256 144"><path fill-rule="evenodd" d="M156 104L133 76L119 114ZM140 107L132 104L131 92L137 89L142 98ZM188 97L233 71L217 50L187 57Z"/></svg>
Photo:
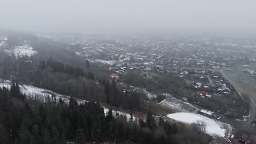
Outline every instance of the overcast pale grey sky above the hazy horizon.
<svg viewBox="0 0 256 144"><path fill-rule="evenodd" d="M23 31L253 31L255 0L0 0L0 27Z"/></svg>

